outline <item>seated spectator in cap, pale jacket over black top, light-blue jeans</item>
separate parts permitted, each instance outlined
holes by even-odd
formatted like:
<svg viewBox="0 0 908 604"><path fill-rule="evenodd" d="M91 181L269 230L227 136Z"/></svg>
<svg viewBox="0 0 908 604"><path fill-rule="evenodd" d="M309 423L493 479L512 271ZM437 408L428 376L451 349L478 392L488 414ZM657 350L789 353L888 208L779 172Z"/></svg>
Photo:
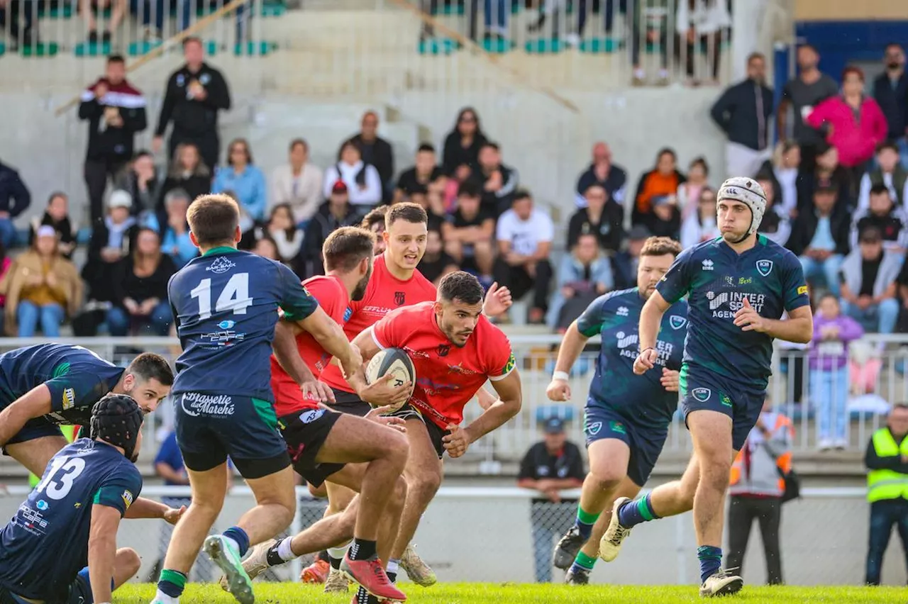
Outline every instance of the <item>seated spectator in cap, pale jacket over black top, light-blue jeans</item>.
<svg viewBox="0 0 908 604"><path fill-rule="evenodd" d="M866 332L891 334L899 316L895 278L902 269L902 257L883 249L883 235L875 227L864 229L859 246L839 269L844 314Z"/></svg>

